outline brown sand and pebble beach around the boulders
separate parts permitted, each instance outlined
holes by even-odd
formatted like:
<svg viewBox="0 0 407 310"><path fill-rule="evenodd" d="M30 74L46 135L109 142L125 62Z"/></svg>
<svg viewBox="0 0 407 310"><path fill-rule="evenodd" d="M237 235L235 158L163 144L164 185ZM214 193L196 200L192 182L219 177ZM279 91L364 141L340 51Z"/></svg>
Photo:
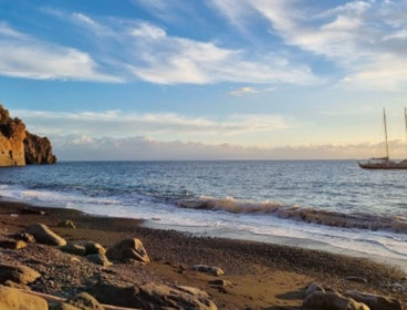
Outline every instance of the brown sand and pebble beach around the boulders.
<svg viewBox="0 0 407 310"><path fill-rule="evenodd" d="M45 215L22 210L44 210ZM35 211L34 211L35 213ZM72 220L76 229L58 227ZM175 230L143 227L128 218L90 216L74 209L32 207L0 202L0 234L20 231L42 223L67 240L93 240L111 247L124 238L139 238L152 262L146 266L115 264L103 268L55 247L29 244L20 250L0 249L0 262L21 262L42 277L31 285L35 291L70 297L86 290L101 278L126 282L178 283L207 291L219 309L302 309L307 285L317 282L337 291L354 289L396 297L407 303L407 278L399 269L368 259L280 245L222 238L201 238ZM225 270L216 277L189 270L205 264ZM367 282L351 281L356 277ZM223 279L230 286L209 281Z"/></svg>

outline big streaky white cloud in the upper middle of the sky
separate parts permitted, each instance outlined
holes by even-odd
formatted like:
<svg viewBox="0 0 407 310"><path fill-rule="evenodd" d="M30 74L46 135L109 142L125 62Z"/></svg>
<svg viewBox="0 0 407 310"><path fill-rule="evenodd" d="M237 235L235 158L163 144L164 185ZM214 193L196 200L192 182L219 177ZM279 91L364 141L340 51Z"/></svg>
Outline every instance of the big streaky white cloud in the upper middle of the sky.
<svg viewBox="0 0 407 310"><path fill-rule="evenodd" d="M160 2L157 2L160 3ZM126 19L103 23L83 13L70 16L96 34L103 50L123 74L157 84L217 82L315 84L321 82L306 65L276 54L249 55L215 42L174 37L163 28ZM117 51L121 54L117 55ZM255 61L253 61L255 59ZM117 68L116 68L117 70Z"/></svg>

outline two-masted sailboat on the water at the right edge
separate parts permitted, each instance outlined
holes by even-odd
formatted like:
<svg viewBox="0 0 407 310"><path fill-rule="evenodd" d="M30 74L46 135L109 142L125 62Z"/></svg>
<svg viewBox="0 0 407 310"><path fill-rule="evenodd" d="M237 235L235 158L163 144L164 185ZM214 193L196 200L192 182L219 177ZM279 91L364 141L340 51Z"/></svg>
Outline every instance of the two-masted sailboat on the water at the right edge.
<svg viewBox="0 0 407 310"><path fill-rule="evenodd" d="M407 133L407 111L404 108L404 120ZM364 169L407 169L407 159L404 161L390 161L388 155L388 141L387 141L387 121L386 111L383 108L383 122L385 125L385 138L386 138L386 157L371 158L364 162L357 162L361 168Z"/></svg>

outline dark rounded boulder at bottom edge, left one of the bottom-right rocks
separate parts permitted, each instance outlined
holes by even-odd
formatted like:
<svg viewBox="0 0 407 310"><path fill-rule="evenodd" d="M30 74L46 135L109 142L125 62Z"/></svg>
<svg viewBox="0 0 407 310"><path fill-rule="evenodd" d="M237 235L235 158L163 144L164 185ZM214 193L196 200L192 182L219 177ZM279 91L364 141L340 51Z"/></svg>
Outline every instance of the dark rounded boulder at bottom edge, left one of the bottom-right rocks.
<svg viewBox="0 0 407 310"><path fill-rule="evenodd" d="M335 292L315 291L306 297L304 307L324 310L371 310L366 304L357 302Z"/></svg>

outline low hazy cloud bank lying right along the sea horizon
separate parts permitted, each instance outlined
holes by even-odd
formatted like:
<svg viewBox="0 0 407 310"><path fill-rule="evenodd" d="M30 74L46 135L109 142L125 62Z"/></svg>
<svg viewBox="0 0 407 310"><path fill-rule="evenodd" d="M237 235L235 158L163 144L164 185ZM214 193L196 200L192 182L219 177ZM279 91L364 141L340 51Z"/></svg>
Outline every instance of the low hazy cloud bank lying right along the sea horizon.
<svg viewBox="0 0 407 310"><path fill-rule="evenodd" d="M160 142L145 136L94 138L86 135L51 136L51 141L62 161L359 159L384 153L382 143L244 147L233 144ZM393 156L407 157L401 141L392 141L390 146Z"/></svg>

